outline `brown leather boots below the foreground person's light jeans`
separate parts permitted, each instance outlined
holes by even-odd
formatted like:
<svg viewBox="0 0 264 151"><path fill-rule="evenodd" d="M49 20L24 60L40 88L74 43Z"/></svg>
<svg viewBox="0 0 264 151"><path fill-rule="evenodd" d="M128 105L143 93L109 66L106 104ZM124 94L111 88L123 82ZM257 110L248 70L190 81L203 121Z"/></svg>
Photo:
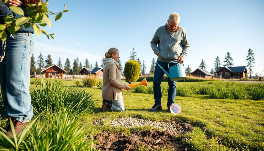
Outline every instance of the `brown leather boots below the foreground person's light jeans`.
<svg viewBox="0 0 264 151"><path fill-rule="evenodd" d="M26 128L26 125L27 125L26 123L22 123L22 122L17 121L17 120L12 120L12 123L14 125L16 135L20 135L22 133L22 131ZM6 129L7 129L6 135L8 137L13 136L13 132L11 130L10 123L8 123L8 125L6 126Z"/></svg>

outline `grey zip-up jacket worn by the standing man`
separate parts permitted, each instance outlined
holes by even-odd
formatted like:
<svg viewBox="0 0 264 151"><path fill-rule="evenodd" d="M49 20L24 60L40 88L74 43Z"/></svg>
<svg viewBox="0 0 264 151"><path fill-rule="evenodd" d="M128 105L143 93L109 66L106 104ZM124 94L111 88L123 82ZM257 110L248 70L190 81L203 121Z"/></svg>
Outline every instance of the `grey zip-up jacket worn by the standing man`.
<svg viewBox="0 0 264 151"><path fill-rule="evenodd" d="M157 60L170 62L179 56L185 58L190 49L185 29L178 26L176 31L171 33L167 24L157 29L150 42L153 52L156 55L160 52Z"/></svg>

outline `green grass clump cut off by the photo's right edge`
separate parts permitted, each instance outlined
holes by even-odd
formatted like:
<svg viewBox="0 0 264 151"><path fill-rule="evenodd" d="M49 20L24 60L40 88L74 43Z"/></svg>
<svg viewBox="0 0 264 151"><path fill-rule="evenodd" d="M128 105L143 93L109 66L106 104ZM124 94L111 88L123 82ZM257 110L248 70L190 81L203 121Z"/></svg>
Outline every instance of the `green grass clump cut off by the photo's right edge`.
<svg viewBox="0 0 264 151"><path fill-rule="evenodd" d="M261 84L261 83L252 84L248 91L248 94L254 100L263 100L264 99L264 84Z"/></svg>

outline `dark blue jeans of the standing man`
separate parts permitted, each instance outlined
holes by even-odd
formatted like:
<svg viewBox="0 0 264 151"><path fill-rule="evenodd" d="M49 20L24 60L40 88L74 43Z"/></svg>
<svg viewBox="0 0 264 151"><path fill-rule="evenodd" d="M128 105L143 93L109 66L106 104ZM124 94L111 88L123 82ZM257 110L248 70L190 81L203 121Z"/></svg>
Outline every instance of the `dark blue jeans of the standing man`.
<svg viewBox="0 0 264 151"><path fill-rule="evenodd" d="M168 63L167 62L161 62L157 60L157 63L161 65L161 67L169 72ZM161 105L161 81L164 76L164 72L161 70L161 68L156 65L155 71L154 71L154 82L153 82L153 89L154 89L154 99L155 104ZM168 90L168 102L167 106L170 107L171 104L174 103L174 99L176 96L176 81L171 81L168 77L168 84L169 84L169 90Z"/></svg>

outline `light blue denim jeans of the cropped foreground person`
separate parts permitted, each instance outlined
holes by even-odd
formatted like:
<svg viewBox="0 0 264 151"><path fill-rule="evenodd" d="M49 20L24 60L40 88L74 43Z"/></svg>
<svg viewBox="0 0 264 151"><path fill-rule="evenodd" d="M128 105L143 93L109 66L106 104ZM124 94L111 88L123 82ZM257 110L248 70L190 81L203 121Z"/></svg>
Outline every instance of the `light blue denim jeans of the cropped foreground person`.
<svg viewBox="0 0 264 151"><path fill-rule="evenodd" d="M34 49L31 33L7 35L6 53L0 62L1 94L5 106L4 118L29 122L33 108L29 94L30 60ZM0 49L0 55L3 50Z"/></svg>

